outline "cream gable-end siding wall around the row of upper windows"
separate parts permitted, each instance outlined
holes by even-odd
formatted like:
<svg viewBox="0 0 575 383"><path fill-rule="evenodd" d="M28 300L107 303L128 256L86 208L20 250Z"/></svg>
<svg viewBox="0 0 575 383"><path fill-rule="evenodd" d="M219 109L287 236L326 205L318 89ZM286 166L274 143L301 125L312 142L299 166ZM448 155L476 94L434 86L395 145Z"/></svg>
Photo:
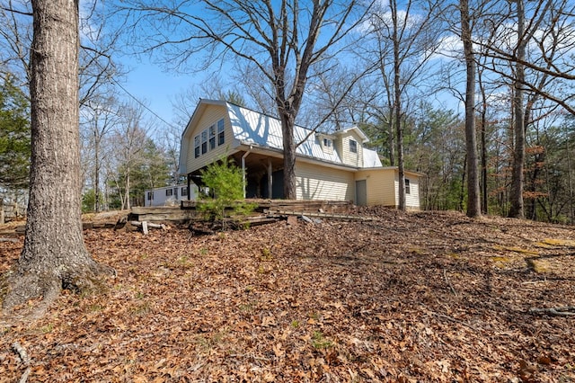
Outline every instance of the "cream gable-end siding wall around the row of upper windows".
<svg viewBox="0 0 575 383"><path fill-rule="evenodd" d="M217 145L217 121L224 119L225 124L225 138L224 145ZM209 128L212 125L216 125L216 147L209 150L208 142L208 153L200 155L198 158L194 156L194 138L201 135L204 129ZM186 169L189 173L198 170L199 168L208 165L221 156L229 156L233 154L232 145L234 142L234 134L230 126L229 117L227 116L226 107L220 105L208 105L206 110L199 117L196 124L196 129L190 132L190 137L188 143L188 154L187 154L187 164ZM208 138L209 139L209 138Z"/></svg>

